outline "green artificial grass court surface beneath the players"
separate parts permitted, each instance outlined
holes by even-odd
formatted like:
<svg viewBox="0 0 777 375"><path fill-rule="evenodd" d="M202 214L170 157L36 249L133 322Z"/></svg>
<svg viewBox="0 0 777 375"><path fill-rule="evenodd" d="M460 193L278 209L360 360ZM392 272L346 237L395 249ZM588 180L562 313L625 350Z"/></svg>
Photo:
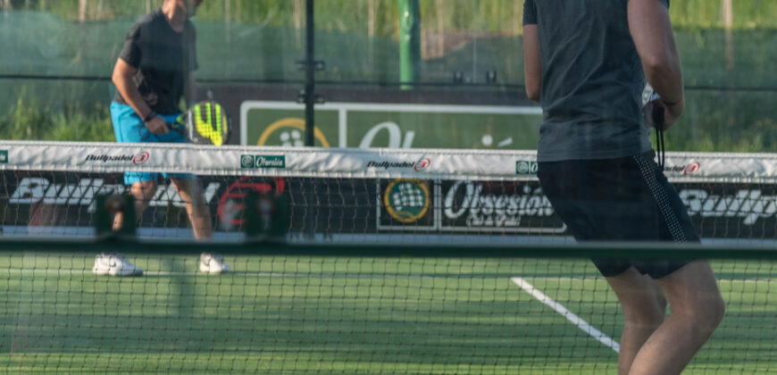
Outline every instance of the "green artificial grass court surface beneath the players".
<svg viewBox="0 0 777 375"><path fill-rule="evenodd" d="M0 254L0 368L617 372L613 348L515 281L618 341L616 298L584 260L233 255L232 273L206 276L197 255L128 255L145 276L95 276L94 254ZM773 371L772 263L720 261L714 270L726 318L684 373Z"/></svg>

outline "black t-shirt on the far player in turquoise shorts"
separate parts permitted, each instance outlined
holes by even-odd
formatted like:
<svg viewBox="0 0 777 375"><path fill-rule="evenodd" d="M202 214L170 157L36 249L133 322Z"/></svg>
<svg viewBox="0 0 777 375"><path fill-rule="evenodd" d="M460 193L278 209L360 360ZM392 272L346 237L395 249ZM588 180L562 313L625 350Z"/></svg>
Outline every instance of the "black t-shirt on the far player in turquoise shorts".
<svg viewBox="0 0 777 375"><path fill-rule="evenodd" d="M195 39L191 21L182 32L176 32L161 9L147 14L129 30L119 58L138 69L135 85L155 112L181 112L179 103L188 73L197 67ZM127 104L118 91L113 100Z"/></svg>

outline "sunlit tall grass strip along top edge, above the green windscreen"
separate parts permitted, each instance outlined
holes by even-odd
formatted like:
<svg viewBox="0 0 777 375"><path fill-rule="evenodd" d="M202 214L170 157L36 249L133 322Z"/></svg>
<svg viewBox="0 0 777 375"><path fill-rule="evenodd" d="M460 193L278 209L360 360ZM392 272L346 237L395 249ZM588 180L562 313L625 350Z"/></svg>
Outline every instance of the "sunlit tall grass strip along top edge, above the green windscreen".
<svg viewBox="0 0 777 375"><path fill-rule="evenodd" d="M85 21L133 17L156 9L163 0L87 0ZM422 27L446 30L482 30L520 34L522 0L419 0ZM79 20L79 0L11 2L14 10L53 12ZM372 12L371 12L372 9ZM376 37L397 35L397 0L315 0L317 29L366 32ZM670 13L676 28L723 29L720 0L672 0ZM305 0L207 0L197 18L267 26L305 26ZM734 29L777 29L777 2L733 0Z"/></svg>

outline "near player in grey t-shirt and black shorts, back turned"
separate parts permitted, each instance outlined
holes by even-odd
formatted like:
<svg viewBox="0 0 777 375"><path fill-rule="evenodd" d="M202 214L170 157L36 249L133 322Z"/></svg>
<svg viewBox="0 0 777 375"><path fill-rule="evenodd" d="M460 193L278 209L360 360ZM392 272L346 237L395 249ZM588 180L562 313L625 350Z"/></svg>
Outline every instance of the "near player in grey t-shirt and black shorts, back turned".
<svg viewBox="0 0 777 375"><path fill-rule="evenodd" d="M525 0L527 95L544 112L538 176L578 241L698 242L654 161L645 80L669 129L684 108L668 0ZM594 259L622 305L620 374L676 374L723 319L709 263ZM666 318L666 301L672 314Z"/></svg>

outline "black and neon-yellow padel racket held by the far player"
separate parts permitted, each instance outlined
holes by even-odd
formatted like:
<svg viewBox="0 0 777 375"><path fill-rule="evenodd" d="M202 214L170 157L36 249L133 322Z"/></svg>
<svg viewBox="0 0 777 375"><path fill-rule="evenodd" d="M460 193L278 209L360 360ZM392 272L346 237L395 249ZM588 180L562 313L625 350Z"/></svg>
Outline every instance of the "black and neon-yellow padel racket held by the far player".
<svg viewBox="0 0 777 375"><path fill-rule="evenodd" d="M223 105L208 100L192 105L171 124L171 129L197 145L221 146L230 140L232 121Z"/></svg>

